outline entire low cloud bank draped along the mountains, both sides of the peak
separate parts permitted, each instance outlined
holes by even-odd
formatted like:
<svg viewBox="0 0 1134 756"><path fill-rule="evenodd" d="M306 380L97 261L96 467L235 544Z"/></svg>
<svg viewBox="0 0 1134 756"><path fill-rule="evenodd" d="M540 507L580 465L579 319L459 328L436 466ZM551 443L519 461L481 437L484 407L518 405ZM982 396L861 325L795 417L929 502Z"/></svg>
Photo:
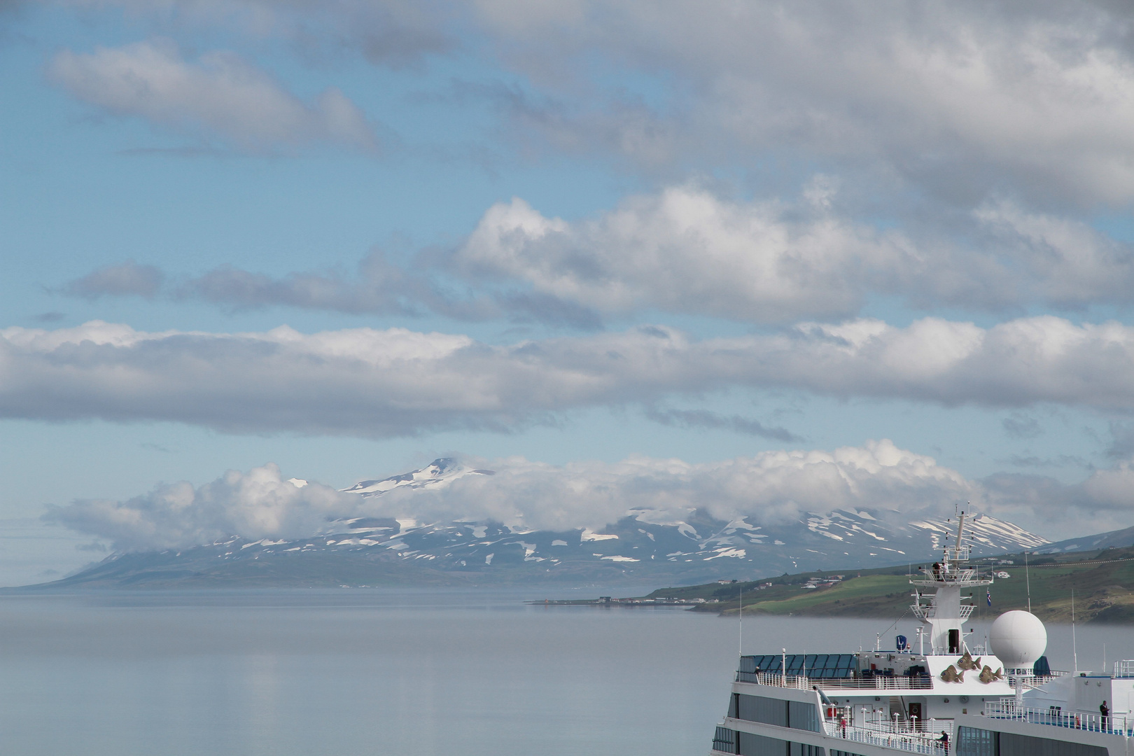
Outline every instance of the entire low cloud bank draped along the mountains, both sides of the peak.
<svg viewBox="0 0 1134 756"><path fill-rule="evenodd" d="M330 520L362 516L496 520L564 530L600 528L633 509L675 521L703 509L723 520L747 517L760 526L853 510L894 524L951 515L957 501L968 501L978 511L1010 516L1040 532L1073 526L1076 533L1089 533L1120 526L1134 509L1129 462L1073 485L1019 475L971 481L885 439L833 451L768 451L703 464L648 457L564 466L522 457L465 462L496 474L363 499L318 483L296 487L269 464L248 473L229 470L200 487L183 482L127 501L78 500L52 508L46 517L129 551L186 547L237 535L303 538L333 530Z"/></svg>

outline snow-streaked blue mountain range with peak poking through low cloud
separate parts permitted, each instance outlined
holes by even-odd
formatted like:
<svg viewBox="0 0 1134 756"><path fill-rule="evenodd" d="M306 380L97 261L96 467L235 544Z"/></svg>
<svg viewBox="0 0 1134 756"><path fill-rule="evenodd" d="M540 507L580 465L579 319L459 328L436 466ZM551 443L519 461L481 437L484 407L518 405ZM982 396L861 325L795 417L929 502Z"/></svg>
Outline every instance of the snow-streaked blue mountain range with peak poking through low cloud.
<svg viewBox="0 0 1134 756"><path fill-rule="evenodd" d="M362 481L345 491L379 496L398 487L446 486L468 475L493 473L438 459L423 469ZM777 526L750 519L723 521L700 509L674 519L670 512L637 508L601 528L531 530L491 520L421 523L411 513L364 517L330 523L325 535L296 541L232 537L179 552L115 555L69 581L694 584L929 561L956 532L949 519L896 521L880 512L850 510ZM978 555L1048 543L987 515L966 519L966 542Z"/></svg>

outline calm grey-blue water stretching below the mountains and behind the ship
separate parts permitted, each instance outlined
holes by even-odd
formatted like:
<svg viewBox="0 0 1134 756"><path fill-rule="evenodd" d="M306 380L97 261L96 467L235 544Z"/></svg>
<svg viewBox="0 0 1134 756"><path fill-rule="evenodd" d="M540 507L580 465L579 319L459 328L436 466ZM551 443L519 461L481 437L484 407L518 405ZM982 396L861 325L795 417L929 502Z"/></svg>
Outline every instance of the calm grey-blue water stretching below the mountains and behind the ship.
<svg viewBox="0 0 1134 756"><path fill-rule="evenodd" d="M386 591L3 596L0 753L708 750L735 669L735 619L521 598ZM883 629L888 638L897 630L912 637L912 623L889 625L750 618L745 652L853 651L872 646ZM1069 629L1049 630L1052 666L1066 668ZM1102 643L1111 660L1134 657L1128 629L1080 628L1081 666L1101 663Z"/></svg>

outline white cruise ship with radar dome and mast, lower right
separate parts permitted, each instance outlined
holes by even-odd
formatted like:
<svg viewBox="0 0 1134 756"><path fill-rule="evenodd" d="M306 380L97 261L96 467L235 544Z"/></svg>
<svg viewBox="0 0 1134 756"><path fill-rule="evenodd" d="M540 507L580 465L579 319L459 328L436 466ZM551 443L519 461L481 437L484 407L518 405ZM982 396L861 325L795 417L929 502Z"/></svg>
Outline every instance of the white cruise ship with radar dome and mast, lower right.
<svg viewBox="0 0 1134 756"><path fill-rule="evenodd" d="M988 648L970 643L971 589L993 576L970 564L964 525L909 580L912 643L742 655L711 756L1134 756L1134 661L1051 670L1047 630L1024 611L997 618Z"/></svg>

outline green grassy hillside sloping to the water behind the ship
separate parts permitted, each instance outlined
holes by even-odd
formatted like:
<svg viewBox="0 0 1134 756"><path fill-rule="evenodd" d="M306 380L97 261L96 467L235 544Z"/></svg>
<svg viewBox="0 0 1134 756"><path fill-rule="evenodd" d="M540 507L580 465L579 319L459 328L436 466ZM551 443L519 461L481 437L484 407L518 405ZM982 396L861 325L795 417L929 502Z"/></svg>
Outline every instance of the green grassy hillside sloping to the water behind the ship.
<svg viewBox="0 0 1134 756"><path fill-rule="evenodd" d="M1010 609L1027 608L1027 583L1022 555L1009 555L1014 566L981 567L982 571L996 569L1008 572L1007 579L997 579L990 587L992 606L984 602L984 588L973 588L976 619L992 619ZM1076 620L1082 622L1134 623L1134 547L1110 549L1098 553L1061 554L1032 562L1027 570L1031 583L1032 611L1043 620L1070 621L1072 591L1075 593ZM1080 561L1102 563L1076 564ZM914 566L916 569L917 566ZM803 584L819 572L785 575L771 578L771 587L756 589L769 580L753 583L661 588L651 597L717 600L720 603L702 604L699 611L731 613L737 611L739 592L744 591L745 612L770 614L809 614L821 617L898 617L912 603L913 586L906 577L907 568L874 570L841 570L845 579L826 588L807 589ZM827 572L826 575L830 575Z"/></svg>

